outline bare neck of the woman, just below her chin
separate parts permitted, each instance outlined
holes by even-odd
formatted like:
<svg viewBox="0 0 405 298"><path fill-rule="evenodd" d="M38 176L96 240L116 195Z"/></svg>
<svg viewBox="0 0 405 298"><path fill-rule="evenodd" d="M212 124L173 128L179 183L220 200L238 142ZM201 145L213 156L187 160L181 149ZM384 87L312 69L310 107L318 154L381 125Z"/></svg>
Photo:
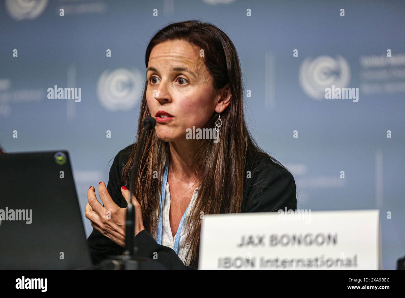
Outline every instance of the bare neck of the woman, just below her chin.
<svg viewBox="0 0 405 298"><path fill-rule="evenodd" d="M170 148L170 172L179 180L197 182L192 169L192 161L200 140L182 140L169 143Z"/></svg>

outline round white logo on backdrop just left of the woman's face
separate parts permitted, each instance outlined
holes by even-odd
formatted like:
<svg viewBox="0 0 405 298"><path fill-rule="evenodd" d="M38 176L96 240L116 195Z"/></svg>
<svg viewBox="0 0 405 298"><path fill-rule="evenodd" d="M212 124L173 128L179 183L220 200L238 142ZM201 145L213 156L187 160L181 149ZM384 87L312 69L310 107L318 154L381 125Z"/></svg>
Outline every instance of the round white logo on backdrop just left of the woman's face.
<svg viewBox="0 0 405 298"><path fill-rule="evenodd" d="M130 109L139 101L142 78L137 69L105 70L98 78L98 99L109 111Z"/></svg>

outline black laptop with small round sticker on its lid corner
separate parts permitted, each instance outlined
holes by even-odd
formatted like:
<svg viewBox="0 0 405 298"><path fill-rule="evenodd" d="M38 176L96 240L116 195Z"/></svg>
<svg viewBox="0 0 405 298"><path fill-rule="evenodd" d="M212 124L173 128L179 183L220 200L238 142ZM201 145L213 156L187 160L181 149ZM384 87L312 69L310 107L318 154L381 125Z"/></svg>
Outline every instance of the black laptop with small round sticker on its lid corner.
<svg viewBox="0 0 405 298"><path fill-rule="evenodd" d="M91 265L68 152L0 154L0 270Z"/></svg>

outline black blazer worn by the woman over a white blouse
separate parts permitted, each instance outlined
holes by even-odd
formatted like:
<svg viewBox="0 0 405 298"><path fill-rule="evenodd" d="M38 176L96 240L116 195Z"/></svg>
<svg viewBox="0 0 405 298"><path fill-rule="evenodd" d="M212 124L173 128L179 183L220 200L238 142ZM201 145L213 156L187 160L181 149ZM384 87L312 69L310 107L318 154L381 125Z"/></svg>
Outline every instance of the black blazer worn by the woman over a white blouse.
<svg viewBox="0 0 405 298"><path fill-rule="evenodd" d="M126 203L121 193L122 171L128 161L134 144L122 149L115 156L109 173L107 190L118 206ZM295 181L287 169L272 161L268 156L247 156L245 173L251 172L251 178L245 176L243 184L242 212L271 212L279 209L296 209ZM128 187L128 185L126 185ZM120 255L124 248L105 237L95 228L87 238L90 254L94 264L107 259L109 255ZM170 247L160 245L146 231L139 232L134 237L134 244L138 247L138 255L153 258L155 252L159 258L156 260L171 270L193 270L195 267L185 266L175 251Z"/></svg>

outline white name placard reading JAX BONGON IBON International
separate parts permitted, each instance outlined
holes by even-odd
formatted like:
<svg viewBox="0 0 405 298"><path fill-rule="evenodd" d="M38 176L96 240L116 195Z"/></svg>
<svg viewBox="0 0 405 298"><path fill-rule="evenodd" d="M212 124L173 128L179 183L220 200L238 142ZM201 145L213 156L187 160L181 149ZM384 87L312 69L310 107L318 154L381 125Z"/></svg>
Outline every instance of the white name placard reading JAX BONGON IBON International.
<svg viewBox="0 0 405 298"><path fill-rule="evenodd" d="M381 268L378 210L287 211L205 215L198 269Z"/></svg>

